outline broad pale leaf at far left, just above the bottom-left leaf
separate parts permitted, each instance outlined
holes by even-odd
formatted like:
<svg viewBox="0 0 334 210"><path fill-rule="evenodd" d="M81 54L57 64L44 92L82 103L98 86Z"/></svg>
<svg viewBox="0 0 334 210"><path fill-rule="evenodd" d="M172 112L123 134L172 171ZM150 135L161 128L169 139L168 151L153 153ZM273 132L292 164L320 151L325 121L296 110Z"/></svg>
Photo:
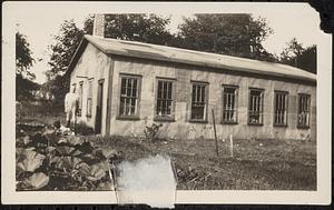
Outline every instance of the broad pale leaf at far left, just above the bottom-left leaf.
<svg viewBox="0 0 334 210"><path fill-rule="evenodd" d="M24 150L23 156L26 156L26 159L21 162L18 162L18 168L22 171L30 171L33 172L36 169L38 169L45 160L45 156L37 153L32 150Z"/></svg>

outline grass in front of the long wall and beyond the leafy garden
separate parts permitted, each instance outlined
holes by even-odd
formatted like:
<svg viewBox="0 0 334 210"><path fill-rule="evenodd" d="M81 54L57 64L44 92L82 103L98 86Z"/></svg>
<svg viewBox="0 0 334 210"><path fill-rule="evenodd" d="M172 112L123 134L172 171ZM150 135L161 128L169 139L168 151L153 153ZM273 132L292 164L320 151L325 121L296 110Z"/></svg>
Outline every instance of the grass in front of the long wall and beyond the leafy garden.
<svg viewBox="0 0 334 210"><path fill-rule="evenodd" d="M23 121L52 124L61 119L61 110L41 113L36 107L24 107ZM234 140L230 157L228 141L158 140L124 137L89 137L96 147L109 147L119 160L136 160L149 154L167 153L175 163L178 190L316 190L316 144L294 140Z"/></svg>

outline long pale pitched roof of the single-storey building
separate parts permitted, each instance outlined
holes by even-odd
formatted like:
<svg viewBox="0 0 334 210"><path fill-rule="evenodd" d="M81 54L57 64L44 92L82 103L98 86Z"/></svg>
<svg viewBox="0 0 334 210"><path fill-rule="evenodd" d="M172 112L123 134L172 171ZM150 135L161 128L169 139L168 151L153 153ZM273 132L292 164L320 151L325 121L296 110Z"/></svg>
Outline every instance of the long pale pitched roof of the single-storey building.
<svg viewBox="0 0 334 210"><path fill-rule="evenodd" d="M202 52L195 50L186 50L166 46L143 43L136 41L99 38L94 36L85 36L68 68L69 72L67 73L70 73L71 70L75 68L77 60L79 59L84 49L87 46L87 42L90 42L107 54L118 54L150 60L195 64L202 67L225 69L230 71L240 71L246 73L249 72L316 82L316 76L314 73L286 64Z"/></svg>

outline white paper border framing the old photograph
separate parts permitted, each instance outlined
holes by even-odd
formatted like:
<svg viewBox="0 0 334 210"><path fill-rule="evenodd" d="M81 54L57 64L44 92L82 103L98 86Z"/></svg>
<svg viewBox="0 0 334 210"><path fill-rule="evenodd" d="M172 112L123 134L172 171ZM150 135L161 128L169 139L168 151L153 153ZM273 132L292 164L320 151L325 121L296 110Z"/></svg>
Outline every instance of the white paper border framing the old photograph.
<svg viewBox="0 0 334 210"><path fill-rule="evenodd" d="M51 203L117 203L115 192L16 191L16 74L14 27L16 12L22 6L62 7L87 10L87 13L250 13L262 10L298 12L308 3L259 2L3 2L2 3L2 117L1 117L1 201L3 204ZM33 12L27 9L27 12ZM316 12L314 10L314 12ZM306 12L307 14L307 12ZM85 18L85 17L82 17ZM38 24L38 22L37 22ZM41 29L42 30L42 29ZM288 30L288 29L287 29ZM317 39L317 190L198 190L176 192L176 204L330 204L331 203L331 113L332 113L332 39L321 29Z"/></svg>

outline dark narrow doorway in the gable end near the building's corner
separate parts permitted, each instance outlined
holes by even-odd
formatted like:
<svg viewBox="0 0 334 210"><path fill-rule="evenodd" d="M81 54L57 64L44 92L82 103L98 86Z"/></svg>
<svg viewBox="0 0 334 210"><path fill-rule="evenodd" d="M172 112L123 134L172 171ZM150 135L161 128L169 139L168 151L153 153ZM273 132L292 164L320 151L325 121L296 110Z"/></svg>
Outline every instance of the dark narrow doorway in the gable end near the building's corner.
<svg viewBox="0 0 334 210"><path fill-rule="evenodd" d="M95 133L101 133L102 128L102 104L104 104L104 80L98 81L98 94L95 118Z"/></svg>

